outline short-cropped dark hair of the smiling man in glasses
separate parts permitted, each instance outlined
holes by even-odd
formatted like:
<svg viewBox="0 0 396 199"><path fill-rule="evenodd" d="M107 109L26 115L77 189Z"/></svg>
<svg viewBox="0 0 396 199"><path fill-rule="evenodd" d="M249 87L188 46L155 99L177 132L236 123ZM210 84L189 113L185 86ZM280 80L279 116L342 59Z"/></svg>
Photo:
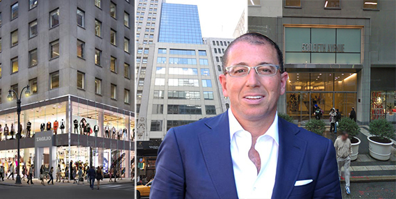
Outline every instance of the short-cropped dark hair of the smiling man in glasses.
<svg viewBox="0 0 396 199"><path fill-rule="evenodd" d="M240 35L238 38L236 38L229 44L229 46L226 48L226 51L224 51L224 55L223 55L223 72L226 71L225 67L228 62L227 58L229 55L229 51L233 47L233 45L236 45L238 42L247 42L251 45L271 45L277 51L279 70L283 72L283 54L281 49L279 49L277 43L272 41L267 36L262 35L261 33L245 33L243 35Z"/></svg>

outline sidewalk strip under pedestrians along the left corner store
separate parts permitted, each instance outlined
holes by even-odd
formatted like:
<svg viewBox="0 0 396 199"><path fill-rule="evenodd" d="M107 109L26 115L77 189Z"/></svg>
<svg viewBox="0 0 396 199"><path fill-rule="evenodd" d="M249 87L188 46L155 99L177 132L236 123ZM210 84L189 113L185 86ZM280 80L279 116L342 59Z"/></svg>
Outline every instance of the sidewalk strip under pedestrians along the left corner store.
<svg viewBox="0 0 396 199"><path fill-rule="evenodd" d="M104 185L104 184L123 184L123 183L132 183L133 181L131 181L131 178L122 178L122 180L117 180L117 182L108 182L109 178L104 178L104 180L101 180L100 185ZM90 186L90 182L88 182L87 180L84 180L84 184L82 182L80 182L80 184L73 184L73 180L70 180L69 182L67 182L67 180L65 180L65 182L62 182L62 180L60 180L60 182L55 182L53 181L53 184L47 184L48 180L44 180L45 182L45 186ZM33 184L27 184L28 180L22 180L22 184L15 184L15 178L14 180L12 180L10 178L10 180L4 179L4 182L0 180L0 186L43 186L41 184L41 181L38 179L33 178ZM97 180L95 180L95 185L97 184Z"/></svg>

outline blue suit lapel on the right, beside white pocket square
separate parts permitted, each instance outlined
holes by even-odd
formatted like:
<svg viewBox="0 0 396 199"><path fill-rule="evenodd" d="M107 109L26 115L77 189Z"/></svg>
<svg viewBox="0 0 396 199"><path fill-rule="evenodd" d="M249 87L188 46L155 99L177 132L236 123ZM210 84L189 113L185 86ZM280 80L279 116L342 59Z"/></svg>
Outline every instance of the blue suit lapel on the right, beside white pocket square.
<svg viewBox="0 0 396 199"><path fill-rule="evenodd" d="M298 138L297 127L279 118L279 154L272 198L288 198L301 170L306 141Z"/></svg>

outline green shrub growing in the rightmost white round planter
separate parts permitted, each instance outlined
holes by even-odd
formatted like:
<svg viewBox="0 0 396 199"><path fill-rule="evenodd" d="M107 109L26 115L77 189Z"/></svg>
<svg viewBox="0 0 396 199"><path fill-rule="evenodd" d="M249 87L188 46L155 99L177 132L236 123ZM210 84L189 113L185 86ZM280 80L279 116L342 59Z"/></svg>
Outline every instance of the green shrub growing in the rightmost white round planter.
<svg viewBox="0 0 396 199"><path fill-rule="evenodd" d="M395 127L386 119L372 120L369 128L370 134L374 135L372 141L390 143L390 139L395 138Z"/></svg>

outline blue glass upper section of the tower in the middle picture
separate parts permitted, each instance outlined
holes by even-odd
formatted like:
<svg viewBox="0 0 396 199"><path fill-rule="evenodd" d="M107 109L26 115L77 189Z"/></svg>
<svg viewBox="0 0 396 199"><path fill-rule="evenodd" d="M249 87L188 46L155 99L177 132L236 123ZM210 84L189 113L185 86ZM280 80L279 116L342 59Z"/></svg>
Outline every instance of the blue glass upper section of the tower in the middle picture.
<svg viewBox="0 0 396 199"><path fill-rule="evenodd" d="M202 44L198 6L163 3L158 42Z"/></svg>

